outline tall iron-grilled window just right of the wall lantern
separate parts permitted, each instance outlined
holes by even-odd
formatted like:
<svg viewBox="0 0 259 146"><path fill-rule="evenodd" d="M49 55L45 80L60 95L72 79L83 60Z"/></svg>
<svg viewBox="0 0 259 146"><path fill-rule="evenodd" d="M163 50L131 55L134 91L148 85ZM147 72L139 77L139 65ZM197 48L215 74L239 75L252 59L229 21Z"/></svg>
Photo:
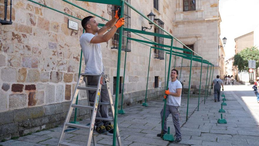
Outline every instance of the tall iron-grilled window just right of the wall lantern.
<svg viewBox="0 0 259 146"><path fill-rule="evenodd" d="M155 23L158 26L164 28L164 22L162 22L160 19L155 19ZM164 34L164 31L155 26L155 33ZM159 44L164 44L164 38L163 37L156 37L155 36L155 42L157 42ZM162 48L162 49L164 48L164 47L161 47L161 46L158 46L158 45L155 45L155 47ZM158 59L163 60L164 59L164 51L163 50L154 49L154 58L158 58Z"/></svg>

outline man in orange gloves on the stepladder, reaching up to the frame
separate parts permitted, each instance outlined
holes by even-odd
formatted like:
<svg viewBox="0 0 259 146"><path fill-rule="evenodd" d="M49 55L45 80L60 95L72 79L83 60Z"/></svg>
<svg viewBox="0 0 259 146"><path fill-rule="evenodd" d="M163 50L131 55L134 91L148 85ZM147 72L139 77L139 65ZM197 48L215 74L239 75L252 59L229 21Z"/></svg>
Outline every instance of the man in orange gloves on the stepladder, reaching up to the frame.
<svg viewBox="0 0 259 146"><path fill-rule="evenodd" d="M101 29L98 29L98 23L92 16L85 17L82 20L81 24L86 33L80 37L80 45L84 53L84 62L86 65L84 72L86 74L99 75L104 73L100 43L109 41L117 29L124 25L124 18L119 19L118 11L119 9L116 11L115 17L107 22ZM110 28L112 29L105 33ZM98 81L99 76L88 76L88 85L97 86ZM103 78L101 78L101 84L105 86ZM90 101L94 101L95 92L96 91L89 91ZM109 96L106 90L101 90L99 101L109 102ZM109 118L108 105L98 105L96 117ZM95 126L98 133L107 133L107 131L113 133L113 125L109 121L95 120Z"/></svg>

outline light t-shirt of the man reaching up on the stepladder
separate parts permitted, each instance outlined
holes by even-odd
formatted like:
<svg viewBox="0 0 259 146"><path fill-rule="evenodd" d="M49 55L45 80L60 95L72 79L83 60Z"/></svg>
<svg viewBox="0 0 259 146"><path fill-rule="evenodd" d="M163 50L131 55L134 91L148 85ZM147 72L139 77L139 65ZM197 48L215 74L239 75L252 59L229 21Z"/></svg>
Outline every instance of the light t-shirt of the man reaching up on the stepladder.
<svg viewBox="0 0 259 146"><path fill-rule="evenodd" d="M98 35L98 33L95 35ZM99 43L90 43L95 35L91 33L83 33L79 40L84 53L84 73L87 74L102 74L104 72L101 45Z"/></svg>

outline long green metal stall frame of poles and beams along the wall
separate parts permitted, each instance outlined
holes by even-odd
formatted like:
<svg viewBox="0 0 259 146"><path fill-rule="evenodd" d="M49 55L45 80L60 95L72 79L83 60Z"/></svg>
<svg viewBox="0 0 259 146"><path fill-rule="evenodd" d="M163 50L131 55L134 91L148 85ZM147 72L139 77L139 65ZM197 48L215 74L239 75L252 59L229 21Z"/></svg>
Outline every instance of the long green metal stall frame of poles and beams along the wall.
<svg viewBox="0 0 259 146"><path fill-rule="evenodd" d="M52 9L56 12L59 12L59 13L62 13L64 15L67 15L69 17L72 17L72 18L75 18L75 19L78 19L78 20L82 20L82 19L79 19L77 17L74 17L72 15L69 15L69 14L66 14L62 11L59 11L57 9L53 9L49 6L46 6L46 5L43 5L43 4L40 4L36 1L33 1L33 0L28 0L28 1L31 1L35 4L39 4L41 6L44 6L44 7L47 7L49 9ZM102 18L106 21L108 21L107 19L97 15L97 14L94 14L70 1L67 1L67 0L62 0L64 2L67 2L79 9L82 9L84 10L85 12L88 12L90 14L93 14L99 18ZM128 40L133 40L133 41L137 41L137 42L140 42L142 44L150 44L150 45L158 45L158 46L161 46L161 47L165 47L165 48L168 48L168 49L162 49L162 48L158 48L158 47L153 47L153 46L150 46L150 54L151 54L151 49L152 48L155 48L155 49L159 49L159 50L164 50L166 51L167 53L166 54L170 54L170 58L169 58L169 65L168 65L168 73L167 73L167 85L166 85L166 88L168 88L168 81L169 81L169 75L170 75L170 67L171 67L171 60L172 60L172 55L175 55L175 58L176 56L180 56L185 59L188 59L190 60L190 78L189 78L189 89L190 89L190 80L191 80L191 68L192 68L192 61L197 61L197 62L200 62L201 63L201 74L202 74L202 63L205 63L208 65L211 65L212 67L212 63L210 63L209 61L205 60L204 58L202 58L199 54L195 53L194 51L192 51L189 47L187 47L185 44L183 44L182 42L180 42L177 38L175 38L173 35L171 35L169 32L167 32L165 29L163 29L162 27L158 26L155 22L151 21L150 19L148 19L145 15L143 15L141 12L139 12L137 9L135 9L133 6L131 6L130 4L128 4L126 1L124 0L77 0L77 1L87 1L87 2L93 2L93 3L102 3L102 4L112 4L112 5L119 5L121 6L121 16L120 17L123 17L124 16L124 5L127 5L129 6L131 9L133 9L135 12L137 12L138 14L140 14L142 17L144 17L145 19L147 19L149 22L151 22L152 24L154 24L156 27L158 27L159 29L161 29L163 32L165 32L167 35L164 35L164 34L158 34L158 33L153 33L153 32L145 32L145 31L141 31L141 30L136 30L136 29L129 29L129 28L124 28L124 27L120 27L119 28L119 49L118 49L118 60L117 60L117 81L116 81L116 94L115 94L115 114L114 114L114 133L113 133L113 146L116 145L116 130L117 130L117 114L118 114L118 97L119 97L119 76L120 76L120 73L119 73L119 70L120 70L120 60L121 60L121 49L122 49L122 37L126 37L126 36L123 36L123 35L120 35L122 34L123 31L129 31L129 32L133 32L134 34L146 39L146 40L149 40L149 41L145 41L145 40L139 40L139 39L134 39L134 38L130 38L130 37L126 37ZM99 24L99 27L102 27L104 26L104 24ZM84 33L84 31L83 31ZM143 34L143 35L152 35L152 36L157 36L157 37L163 37L163 38L167 38L167 39L170 39L171 40L171 44L170 45L164 45L164 44L158 44L144 36L141 36L139 34ZM182 44L183 46L185 46L187 49L184 49L184 48L179 48L179 47L174 47L173 46L173 40L176 40L177 42L179 42L180 44ZM146 45L146 44L145 44ZM169 50L170 49L170 50ZM190 54L187 54L187 53L181 53L181 52L175 52L173 51L172 49L176 49L176 50L180 50L180 51L185 51L185 52L190 52ZM170 53L168 53L170 52ZM193 55L193 53L195 53L196 55ZM125 65L126 65L126 55L127 55L127 51L125 53L125 62L124 62L124 75L125 76ZM150 59L150 58L149 58ZM165 60L166 62L166 60ZM175 59L175 62L176 62L176 59ZM80 72L81 72L81 64L82 64L82 50L81 50L81 57L80 57L80 65L79 65L79 75L80 75ZM150 67L150 61L149 61L149 67ZM149 68L148 67L148 68ZM175 65L174 65L175 67ZM207 67L207 75L208 75L208 67ZM182 66L181 66L181 71L182 71ZM213 72L214 72L214 65L213 65ZM166 70L165 70L165 74L166 74ZM201 74L200 74L200 79L201 79ZM149 76L149 71L148 71L148 76ZM212 73L212 76L213 76L213 73ZM180 73L180 78L181 78L181 73ZM212 77L213 78L213 77ZM124 77L123 77L123 80L124 80ZM210 82L210 80L209 80ZM148 83L148 79L147 79L147 83ZM123 85L124 85L124 81L123 81ZM200 86L201 86L201 80L200 80ZM207 78L206 78L206 86L207 87ZM123 89L124 89L124 86L123 86ZM146 89L147 90L147 89ZM199 89L200 91L200 89ZM210 91L211 92L211 91ZM208 90L207 90L207 94L208 94ZM206 96L206 88L205 88L205 96ZM188 91L188 101L187 101L187 115L186 115L186 121L187 121L187 116L188 116L188 103L189 103L189 97L190 97L190 90ZM123 98L123 95L122 95L122 98ZM199 99L200 99L200 94L199 94ZM77 100L78 100L78 97L77 97ZM123 101L123 100L122 100ZM205 101L204 101L205 102ZM145 103L146 103L146 97L145 97ZM122 106L122 105L121 105ZM165 106L166 106L166 100L165 100L165 104L164 104L164 109L165 109ZM198 105L199 107L199 105ZM122 107L121 107L122 108ZM75 109L77 110L77 109ZM75 118L74 118L74 122L76 122L76 111L75 111ZM163 124L163 123L162 123ZM163 125L162 125L163 127Z"/></svg>

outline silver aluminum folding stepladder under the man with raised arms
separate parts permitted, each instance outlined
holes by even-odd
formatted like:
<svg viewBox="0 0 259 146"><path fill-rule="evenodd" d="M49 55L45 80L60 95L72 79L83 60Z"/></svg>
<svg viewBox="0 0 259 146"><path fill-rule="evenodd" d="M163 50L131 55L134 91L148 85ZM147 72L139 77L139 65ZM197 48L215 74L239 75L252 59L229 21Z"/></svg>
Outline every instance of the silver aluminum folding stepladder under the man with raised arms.
<svg viewBox="0 0 259 146"><path fill-rule="evenodd" d="M85 82L85 86L81 86L83 82ZM79 90L87 91L86 94L87 94L88 105L75 104L77 101L77 95L79 94ZM108 115L108 106L110 107L112 118L109 117ZM88 124L69 123L69 119L72 115L74 108L82 108L82 109L90 110L89 112L91 115L90 123ZM93 75L93 74L81 73L77 81L77 85L75 87L73 97L71 99L71 103L69 106L69 110L67 112L66 119L63 124L62 132L59 137L58 146L79 146L73 143L65 142L64 136L66 132L69 130L68 129L69 127L89 130L88 132L89 134L88 136L86 136L87 142L85 145L90 146L92 139L93 139L93 145L96 145L97 144L96 136L99 133L95 131L96 129L95 125L102 124L104 122L107 123L110 121L114 121L114 104L112 101L112 94L110 92L109 80L107 75L104 75L104 74ZM106 133L102 133L102 134L106 134ZM116 137L117 137L118 145L122 146L118 126L116 130Z"/></svg>

